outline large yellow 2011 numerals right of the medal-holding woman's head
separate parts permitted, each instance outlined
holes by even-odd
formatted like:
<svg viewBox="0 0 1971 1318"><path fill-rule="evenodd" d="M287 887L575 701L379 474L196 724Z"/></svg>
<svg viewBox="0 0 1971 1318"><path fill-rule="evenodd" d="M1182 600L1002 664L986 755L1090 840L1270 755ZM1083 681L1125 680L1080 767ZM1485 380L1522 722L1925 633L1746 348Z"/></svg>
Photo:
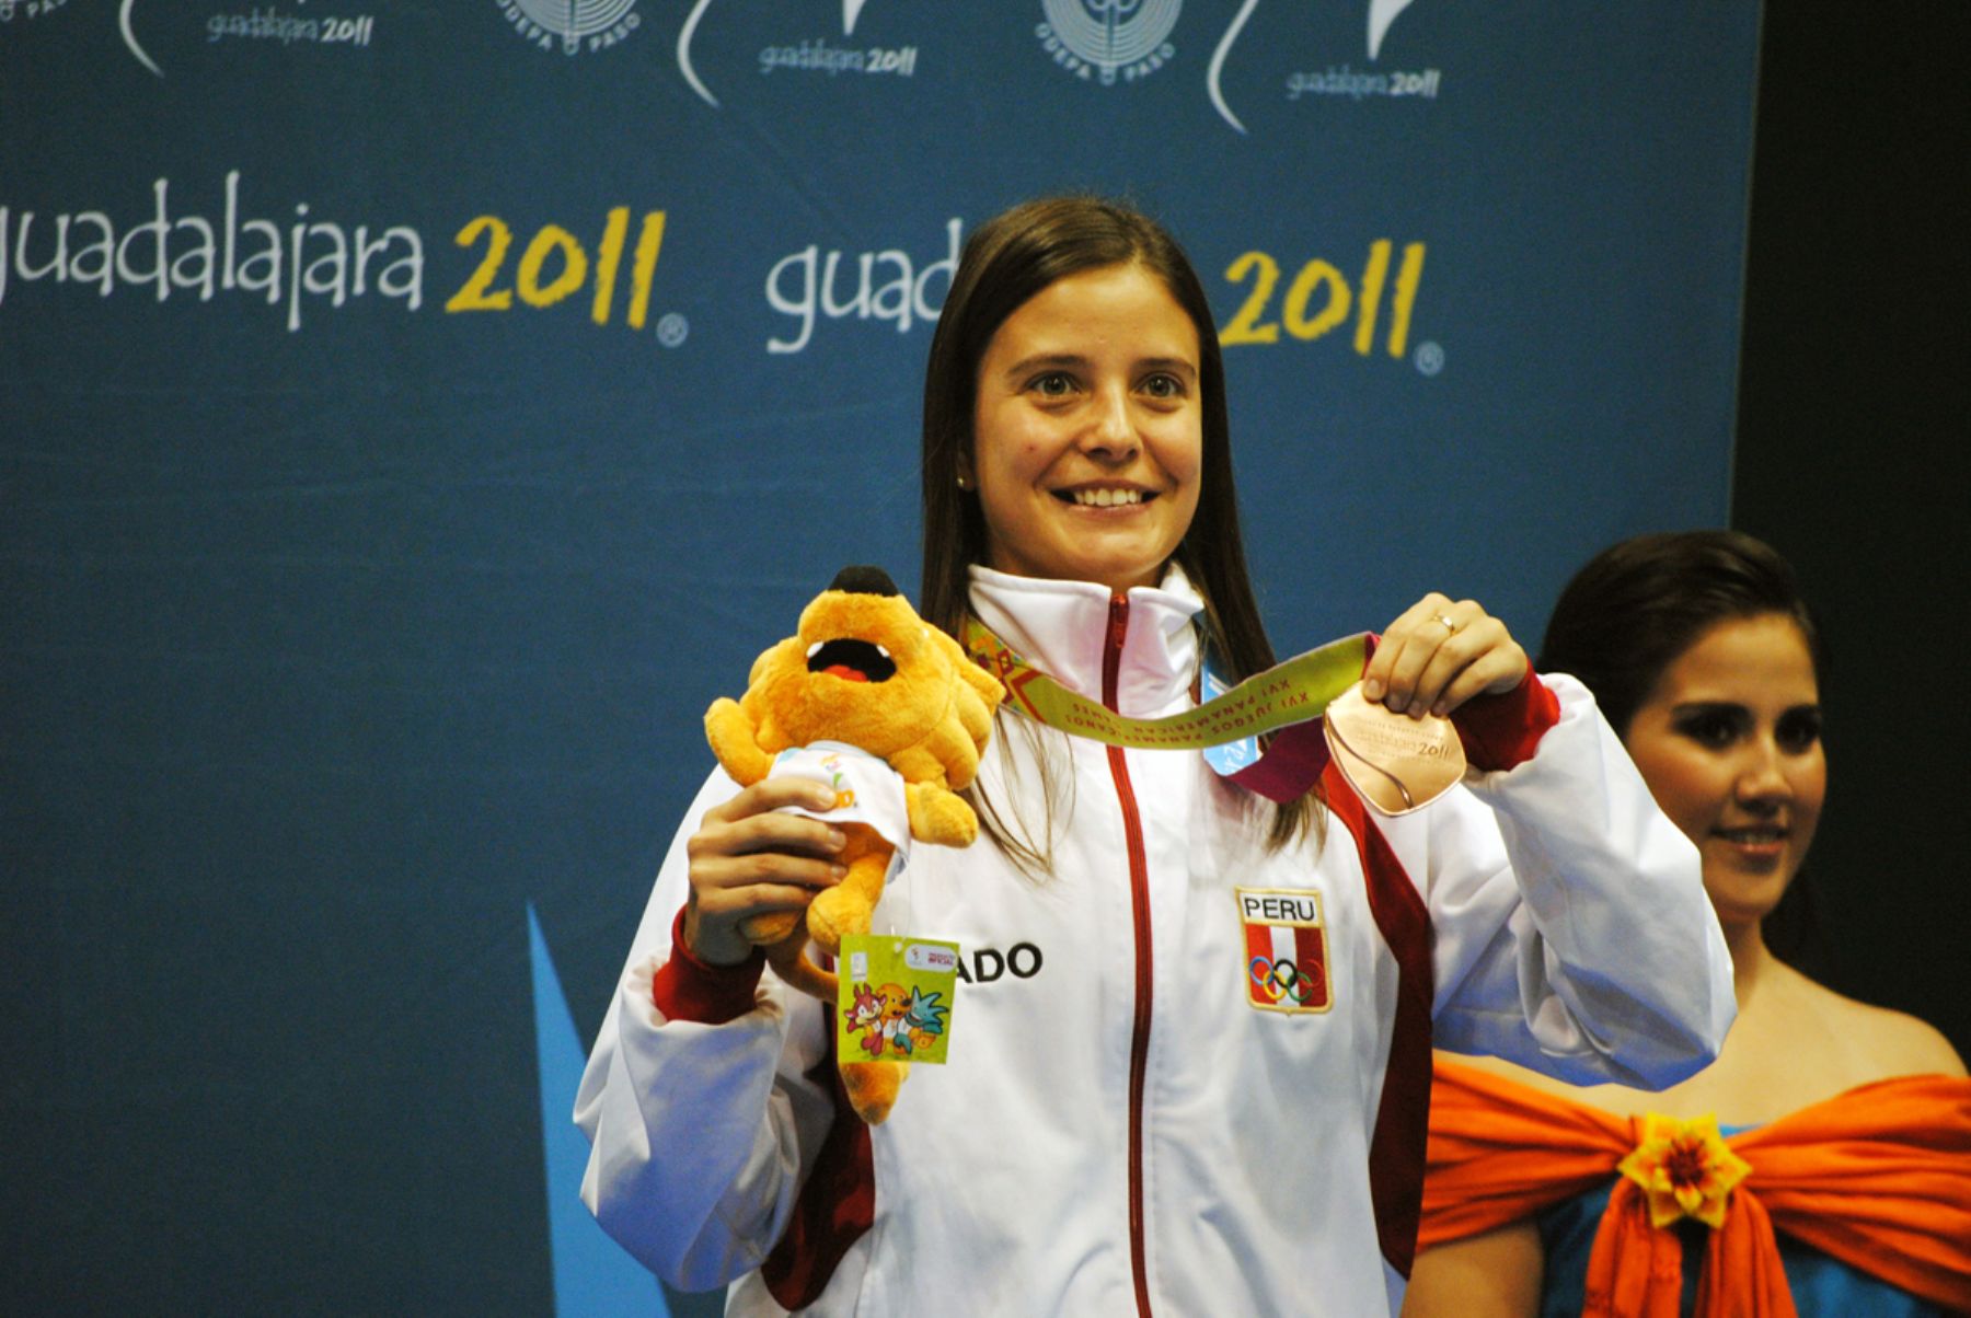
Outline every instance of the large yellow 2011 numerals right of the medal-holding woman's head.
<svg viewBox="0 0 1971 1318"><path fill-rule="evenodd" d="M1390 282L1388 238L1376 238L1368 248L1368 262L1362 266L1362 280L1348 286L1348 276L1325 260L1311 260L1301 266L1287 286L1287 296L1279 303L1277 321L1261 321L1279 286L1279 262L1265 252L1246 252L1226 266L1226 280L1242 284L1252 276L1252 292L1240 305L1232 323L1218 333L1218 343L1279 343L1279 327L1295 339L1319 339L1336 325L1348 321L1348 311L1356 313L1354 351L1368 357L1376 347L1376 317L1382 311L1382 294ZM1417 284L1423 280L1423 244L1403 246L1403 264L1395 272L1395 296L1390 305L1390 357L1401 357L1409 347L1409 311L1417 303Z"/></svg>

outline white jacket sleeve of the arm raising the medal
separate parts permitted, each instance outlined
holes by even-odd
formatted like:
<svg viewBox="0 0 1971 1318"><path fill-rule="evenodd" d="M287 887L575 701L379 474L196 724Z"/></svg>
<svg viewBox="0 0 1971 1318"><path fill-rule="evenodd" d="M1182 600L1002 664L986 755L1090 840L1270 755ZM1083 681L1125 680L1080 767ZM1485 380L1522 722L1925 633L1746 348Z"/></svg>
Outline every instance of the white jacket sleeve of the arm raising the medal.
<svg viewBox="0 0 1971 1318"><path fill-rule="evenodd" d="M1386 820L1435 934L1435 1042L1571 1084L1667 1087L1736 1015L1697 847L1595 697L1543 678L1561 719L1533 757Z"/></svg>

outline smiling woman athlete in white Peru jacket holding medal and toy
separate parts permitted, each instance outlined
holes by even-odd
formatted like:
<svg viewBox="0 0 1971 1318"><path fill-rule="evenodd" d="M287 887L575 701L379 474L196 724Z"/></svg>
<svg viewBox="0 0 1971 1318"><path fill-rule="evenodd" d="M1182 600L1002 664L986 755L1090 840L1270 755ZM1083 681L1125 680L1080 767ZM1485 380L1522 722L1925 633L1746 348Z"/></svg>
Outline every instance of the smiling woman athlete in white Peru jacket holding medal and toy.
<svg viewBox="0 0 1971 1318"><path fill-rule="evenodd" d="M1210 307L1145 217L1047 199L968 240L924 382L922 583L928 621L1125 715L1192 707L1206 656L1271 666ZM1332 774L1275 806L1196 751L1001 709L987 837L915 849L885 910L1015 969L962 989L950 1064L873 1129L820 1005L737 934L834 883L840 833L779 810L826 802L714 774L578 1099L603 1227L739 1314L1393 1310L1433 1030L1665 1086L1733 999L1697 855L1579 684L1427 595L1364 690L1451 713L1476 772L1401 818ZM1291 993L1254 991L1256 959Z"/></svg>

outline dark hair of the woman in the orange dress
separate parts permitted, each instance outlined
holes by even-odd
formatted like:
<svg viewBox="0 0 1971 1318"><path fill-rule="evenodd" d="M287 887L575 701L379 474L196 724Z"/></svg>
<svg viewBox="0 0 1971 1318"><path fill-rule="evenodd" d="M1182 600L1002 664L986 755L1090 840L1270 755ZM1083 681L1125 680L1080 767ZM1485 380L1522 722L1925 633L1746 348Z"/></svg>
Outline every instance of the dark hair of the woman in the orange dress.
<svg viewBox="0 0 1971 1318"><path fill-rule="evenodd" d="M1664 670L1707 630L1772 613L1800 626L1819 684L1827 672L1821 632L1792 565L1772 546L1734 530L1636 536L1597 554L1567 583L1533 666L1579 678L1626 739ZM1800 877L1762 928L1774 956L1809 975L1823 969L1813 889Z"/></svg>

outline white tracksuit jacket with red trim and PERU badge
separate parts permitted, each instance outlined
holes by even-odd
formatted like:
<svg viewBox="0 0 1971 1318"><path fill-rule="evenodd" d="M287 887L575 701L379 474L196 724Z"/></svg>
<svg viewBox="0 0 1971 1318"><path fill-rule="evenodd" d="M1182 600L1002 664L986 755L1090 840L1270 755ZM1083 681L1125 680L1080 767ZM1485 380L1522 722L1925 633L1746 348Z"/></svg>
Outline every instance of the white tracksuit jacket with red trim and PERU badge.
<svg viewBox="0 0 1971 1318"><path fill-rule="evenodd" d="M1181 573L1112 601L974 569L974 607L1121 713L1190 703ZM1001 713L986 790L1039 820L1045 745L1070 824L1045 881L984 837L893 879L875 928L960 942L968 981L950 1064L911 1068L873 1129L836 1097L818 1003L684 956L658 975L684 837L737 790L714 774L581 1080L583 1198L672 1285L735 1283L737 1314L1395 1312L1433 1042L1662 1087L1734 1015L1695 847L1587 692L1547 688L1531 758L1395 820L1330 772L1325 845L1271 853L1200 755Z"/></svg>

